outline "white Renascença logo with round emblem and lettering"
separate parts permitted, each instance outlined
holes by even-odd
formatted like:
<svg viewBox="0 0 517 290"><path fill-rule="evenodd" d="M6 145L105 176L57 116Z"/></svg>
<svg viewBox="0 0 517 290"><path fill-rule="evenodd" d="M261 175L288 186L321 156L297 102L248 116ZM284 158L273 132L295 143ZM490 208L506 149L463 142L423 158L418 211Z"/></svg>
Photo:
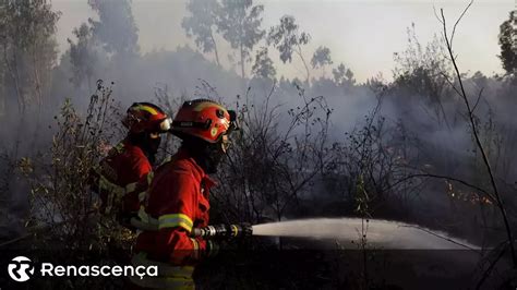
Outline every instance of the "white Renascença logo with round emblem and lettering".
<svg viewBox="0 0 517 290"><path fill-rule="evenodd" d="M31 279L31 276L34 275L34 266L32 261L24 256L17 256L12 259L13 263L10 263L8 266L9 276L15 281L24 282ZM41 263L39 267L41 277L132 277L137 276L140 279L143 279L145 276L156 277L158 276L158 266L62 266L53 265L51 263ZM31 276L28 275L31 274Z"/></svg>

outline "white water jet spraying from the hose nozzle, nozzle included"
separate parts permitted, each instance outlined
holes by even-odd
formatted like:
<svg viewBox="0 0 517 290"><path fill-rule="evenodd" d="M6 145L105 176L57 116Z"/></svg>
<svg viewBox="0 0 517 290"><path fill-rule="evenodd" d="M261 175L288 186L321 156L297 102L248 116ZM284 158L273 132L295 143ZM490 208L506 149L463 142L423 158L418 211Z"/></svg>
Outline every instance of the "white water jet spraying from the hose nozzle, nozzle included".
<svg viewBox="0 0 517 290"><path fill-rule="evenodd" d="M364 239L369 245L385 250L479 250L467 241L418 225L361 218L299 219L254 226L217 225L193 229L192 235L205 239L251 235L309 238L339 241L342 249L356 249Z"/></svg>

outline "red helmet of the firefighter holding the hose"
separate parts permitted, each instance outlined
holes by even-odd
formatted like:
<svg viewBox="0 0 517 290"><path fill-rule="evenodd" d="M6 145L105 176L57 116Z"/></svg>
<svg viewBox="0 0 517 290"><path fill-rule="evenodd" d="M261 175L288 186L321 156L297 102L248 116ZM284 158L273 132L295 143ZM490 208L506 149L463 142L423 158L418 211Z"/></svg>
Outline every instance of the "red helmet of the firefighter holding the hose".
<svg viewBox="0 0 517 290"><path fill-rule="evenodd" d="M185 135L217 143L220 137L237 130L237 114L209 99L194 99L183 102L172 122L172 134Z"/></svg>

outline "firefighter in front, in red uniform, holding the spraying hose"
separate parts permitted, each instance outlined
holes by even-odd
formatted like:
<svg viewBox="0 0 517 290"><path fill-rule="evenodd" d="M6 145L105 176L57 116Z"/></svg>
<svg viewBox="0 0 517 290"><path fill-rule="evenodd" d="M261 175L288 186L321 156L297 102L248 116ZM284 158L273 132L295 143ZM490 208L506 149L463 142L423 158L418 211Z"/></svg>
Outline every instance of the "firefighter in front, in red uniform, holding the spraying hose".
<svg viewBox="0 0 517 290"><path fill-rule="evenodd" d="M214 255L213 241L192 238L194 228L208 226L209 190L237 129L235 111L208 99L185 101L171 133L182 144L171 160L160 166L149 186L142 220L149 226L134 246L133 265L158 265L158 277L132 278L145 288L193 289L192 273L201 259ZM154 229L153 229L154 227Z"/></svg>

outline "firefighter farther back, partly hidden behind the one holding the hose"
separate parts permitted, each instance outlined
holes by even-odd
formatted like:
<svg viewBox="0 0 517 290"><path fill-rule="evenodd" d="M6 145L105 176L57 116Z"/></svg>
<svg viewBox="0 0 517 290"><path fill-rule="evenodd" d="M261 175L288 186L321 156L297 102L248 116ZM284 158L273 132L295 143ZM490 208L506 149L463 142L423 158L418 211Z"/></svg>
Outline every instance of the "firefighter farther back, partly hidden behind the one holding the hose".
<svg viewBox="0 0 517 290"><path fill-rule="evenodd" d="M130 228L130 218L137 215L153 177L160 133L170 130L171 119L156 105L134 102L122 124L128 135L94 168L92 185L99 193L101 212L116 215Z"/></svg>

